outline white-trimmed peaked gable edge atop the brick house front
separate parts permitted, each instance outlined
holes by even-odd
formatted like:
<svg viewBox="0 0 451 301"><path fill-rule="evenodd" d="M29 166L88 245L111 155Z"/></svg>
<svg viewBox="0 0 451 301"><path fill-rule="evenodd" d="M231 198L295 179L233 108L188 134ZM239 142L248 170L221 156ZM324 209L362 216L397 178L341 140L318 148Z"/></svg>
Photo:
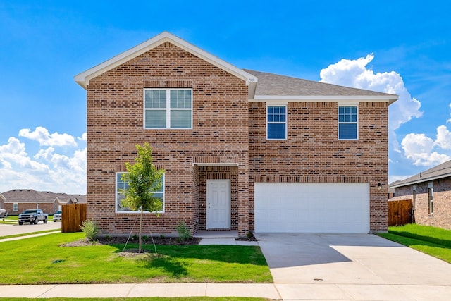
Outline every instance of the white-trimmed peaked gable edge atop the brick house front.
<svg viewBox="0 0 451 301"><path fill-rule="evenodd" d="M142 42L141 44L128 49L127 51L124 51L117 56L114 56L108 61L104 61L97 66L94 66L78 75L75 75L75 82L86 89L87 85L89 85L89 80L91 80L92 78L95 78L102 73L105 73L106 71L116 68L122 63L130 61L131 59L134 59L135 57L140 56L141 54L144 54L145 52L154 49L155 47L166 42L170 42L171 44L174 44L175 46L180 47L187 52L190 52L190 54L193 54L200 59L204 59L204 61L208 61L218 68L226 70L228 73L237 76L237 78L245 80L247 85L255 85L255 83L257 82L257 78L254 75L251 75L244 70L237 68L230 63L227 63L226 61L218 59L216 56L209 54L199 47L196 47L169 32L161 32L161 34L148 39L146 42Z"/></svg>

